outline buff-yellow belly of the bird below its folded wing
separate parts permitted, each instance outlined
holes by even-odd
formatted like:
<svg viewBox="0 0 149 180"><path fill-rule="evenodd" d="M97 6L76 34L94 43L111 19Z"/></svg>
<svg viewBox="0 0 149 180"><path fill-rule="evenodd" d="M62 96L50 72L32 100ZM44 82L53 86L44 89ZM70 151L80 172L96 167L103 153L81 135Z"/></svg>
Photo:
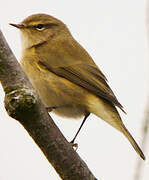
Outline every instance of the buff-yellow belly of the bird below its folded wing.
<svg viewBox="0 0 149 180"><path fill-rule="evenodd" d="M85 97L88 91L49 71L24 67L33 87L46 107L64 117L77 118L87 113Z"/></svg>

